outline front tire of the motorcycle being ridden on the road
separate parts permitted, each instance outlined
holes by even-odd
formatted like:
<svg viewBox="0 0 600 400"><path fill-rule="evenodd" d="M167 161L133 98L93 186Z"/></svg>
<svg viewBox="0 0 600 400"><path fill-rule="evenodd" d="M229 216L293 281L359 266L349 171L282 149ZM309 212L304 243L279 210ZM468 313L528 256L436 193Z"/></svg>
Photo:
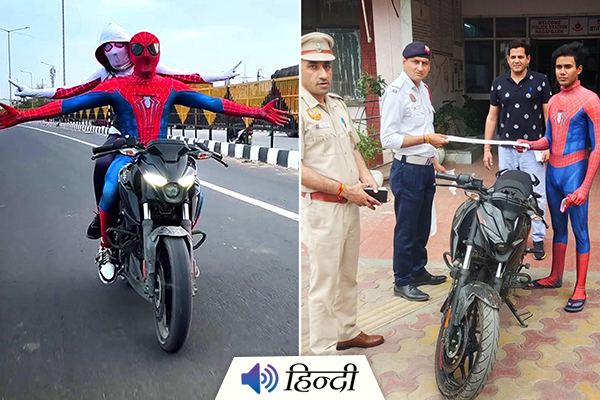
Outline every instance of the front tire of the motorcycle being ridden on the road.
<svg viewBox="0 0 600 400"><path fill-rule="evenodd" d="M175 353L185 343L192 323L191 261L185 240L163 237L156 261L156 336L164 351Z"/></svg>

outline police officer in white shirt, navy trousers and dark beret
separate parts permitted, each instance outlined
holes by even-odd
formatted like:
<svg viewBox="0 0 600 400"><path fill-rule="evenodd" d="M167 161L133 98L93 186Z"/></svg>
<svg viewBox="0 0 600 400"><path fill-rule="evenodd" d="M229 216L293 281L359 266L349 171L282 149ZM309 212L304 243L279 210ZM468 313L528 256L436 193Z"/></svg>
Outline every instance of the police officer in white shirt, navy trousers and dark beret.
<svg viewBox="0 0 600 400"><path fill-rule="evenodd" d="M435 158L436 148L448 143L445 135L434 133L431 95L422 82L431 68L430 53L424 43L408 44L402 52L403 71L381 99L381 143L394 152L394 294L412 301L429 299L417 286L446 281L425 270L434 170L446 171Z"/></svg>

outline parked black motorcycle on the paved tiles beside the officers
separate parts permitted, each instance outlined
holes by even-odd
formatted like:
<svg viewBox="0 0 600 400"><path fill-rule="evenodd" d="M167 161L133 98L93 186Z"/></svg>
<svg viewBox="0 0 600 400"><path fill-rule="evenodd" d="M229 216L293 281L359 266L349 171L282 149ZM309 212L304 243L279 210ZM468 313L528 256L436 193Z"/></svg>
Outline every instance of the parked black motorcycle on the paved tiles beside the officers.
<svg viewBox="0 0 600 400"><path fill-rule="evenodd" d="M496 360L502 304L527 326L511 296L531 282L521 270L529 268L523 263L525 254L534 252L526 247L531 221L543 221L539 195L533 191L539 180L506 170L496 174L490 188L466 174L436 173L436 178L455 181L468 199L454 214L450 252L444 253L453 282L441 308L435 377L445 398L473 399Z"/></svg>

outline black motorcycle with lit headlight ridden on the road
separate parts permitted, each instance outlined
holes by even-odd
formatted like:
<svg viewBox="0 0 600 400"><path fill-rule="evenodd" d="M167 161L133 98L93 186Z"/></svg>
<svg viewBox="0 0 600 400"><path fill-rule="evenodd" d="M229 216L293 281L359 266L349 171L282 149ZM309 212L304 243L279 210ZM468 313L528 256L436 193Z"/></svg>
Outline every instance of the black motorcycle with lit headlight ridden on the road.
<svg viewBox="0 0 600 400"><path fill-rule="evenodd" d="M92 152L92 159L114 152L135 157L119 173L119 217L107 234L119 262L117 274L153 304L160 346L174 353L185 343L192 320L194 281L200 274L193 250L206 240L206 233L192 230L204 201L196 160L227 164L202 144L169 139L146 147L119 138Z"/></svg>

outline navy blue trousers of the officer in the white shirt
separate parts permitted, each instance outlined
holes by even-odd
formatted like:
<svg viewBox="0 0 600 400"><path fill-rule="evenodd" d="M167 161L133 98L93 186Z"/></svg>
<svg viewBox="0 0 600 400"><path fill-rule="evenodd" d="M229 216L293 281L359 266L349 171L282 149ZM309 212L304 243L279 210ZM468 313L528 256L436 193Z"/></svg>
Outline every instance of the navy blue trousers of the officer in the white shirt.
<svg viewBox="0 0 600 400"><path fill-rule="evenodd" d="M431 207L435 194L433 166L413 165L394 159L390 187L394 193L394 283L405 286L425 273Z"/></svg>

